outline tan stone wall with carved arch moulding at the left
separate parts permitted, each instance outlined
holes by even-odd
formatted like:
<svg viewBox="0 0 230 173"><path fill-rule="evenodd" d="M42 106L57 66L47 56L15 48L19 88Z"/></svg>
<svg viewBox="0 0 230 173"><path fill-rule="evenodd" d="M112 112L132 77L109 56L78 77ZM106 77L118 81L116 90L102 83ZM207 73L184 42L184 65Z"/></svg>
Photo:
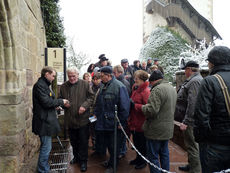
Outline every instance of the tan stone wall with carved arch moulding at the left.
<svg viewBox="0 0 230 173"><path fill-rule="evenodd" d="M39 0L0 0L0 172L17 173L38 150L32 86L44 66Z"/></svg>

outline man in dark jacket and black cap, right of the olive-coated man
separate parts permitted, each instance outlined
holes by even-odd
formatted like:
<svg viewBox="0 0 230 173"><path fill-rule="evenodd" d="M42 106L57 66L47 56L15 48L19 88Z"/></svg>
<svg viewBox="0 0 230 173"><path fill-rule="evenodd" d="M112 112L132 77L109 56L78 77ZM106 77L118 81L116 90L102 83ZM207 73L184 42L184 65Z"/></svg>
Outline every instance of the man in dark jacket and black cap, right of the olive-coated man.
<svg viewBox="0 0 230 173"><path fill-rule="evenodd" d="M199 146L195 142L194 108L201 80L199 64L195 61L188 61L182 68L185 70L186 80L177 91L177 104L175 120L181 122L180 130L183 131L184 144L188 153L188 165L180 166L179 170L190 173L201 172L199 159Z"/></svg>

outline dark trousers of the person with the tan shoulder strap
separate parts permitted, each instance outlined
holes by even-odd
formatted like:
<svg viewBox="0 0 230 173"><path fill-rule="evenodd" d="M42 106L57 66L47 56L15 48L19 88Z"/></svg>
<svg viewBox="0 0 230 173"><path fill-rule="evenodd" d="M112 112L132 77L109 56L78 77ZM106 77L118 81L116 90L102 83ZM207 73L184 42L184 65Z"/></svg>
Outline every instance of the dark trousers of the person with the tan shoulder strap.
<svg viewBox="0 0 230 173"><path fill-rule="evenodd" d="M207 143L199 146L202 173L220 172L230 168L230 146Z"/></svg>

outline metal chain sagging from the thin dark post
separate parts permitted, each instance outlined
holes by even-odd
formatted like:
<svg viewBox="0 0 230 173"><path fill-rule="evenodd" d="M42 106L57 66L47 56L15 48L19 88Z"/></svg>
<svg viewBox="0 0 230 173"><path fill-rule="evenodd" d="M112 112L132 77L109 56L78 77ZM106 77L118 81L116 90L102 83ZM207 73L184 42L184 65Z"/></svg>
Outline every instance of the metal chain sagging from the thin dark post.
<svg viewBox="0 0 230 173"><path fill-rule="evenodd" d="M164 169L162 169L162 168L159 168L158 166L156 166L156 165L154 165L153 163L151 163L148 159L146 159L146 158L136 149L136 147L133 145L132 141L129 139L128 135L126 134L126 132L125 132L124 128L122 127L121 122L120 122L120 120L119 120L119 118L118 118L118 116L117 116L116 114L115 114L115 117L116 117L116 119L117 119L117 121L118 121L118 123L119 123L119 126L121 127L121 130L122 130L122 132L124 133L126 139L129 141L129 143L131 144L131 146L133 147L133 149L138 153L138 155L140 155L148 164L150 164L151 166L153 166L154 168L158 169L158 170L161 171L161 172L175 173L175 172L169 172L169 171L167 171L167 170L164 170Z"/></svg>

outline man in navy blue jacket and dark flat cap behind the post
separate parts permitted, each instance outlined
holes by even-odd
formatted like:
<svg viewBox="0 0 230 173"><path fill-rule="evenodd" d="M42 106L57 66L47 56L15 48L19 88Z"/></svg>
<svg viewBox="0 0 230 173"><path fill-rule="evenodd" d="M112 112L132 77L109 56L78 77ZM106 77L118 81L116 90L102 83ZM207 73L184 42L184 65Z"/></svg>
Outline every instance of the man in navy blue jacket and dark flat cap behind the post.
<svg viewBox="0 0 230 173"><path fill-rule="evenodd" d="M95 115L97 123L95 129L104 136L106 146L110 154L106 172L113 172L114 163L114 119L115 105L117 115L122 126L125 126L129 115L129 95L126 87L112 75L112 67L106 66L100 69L102 86L97 96ZM118 126L119 128L119 126ZM121 130L117 132L117 148L120 148ZM117 152L118 158L119 152Z"/></svg>

